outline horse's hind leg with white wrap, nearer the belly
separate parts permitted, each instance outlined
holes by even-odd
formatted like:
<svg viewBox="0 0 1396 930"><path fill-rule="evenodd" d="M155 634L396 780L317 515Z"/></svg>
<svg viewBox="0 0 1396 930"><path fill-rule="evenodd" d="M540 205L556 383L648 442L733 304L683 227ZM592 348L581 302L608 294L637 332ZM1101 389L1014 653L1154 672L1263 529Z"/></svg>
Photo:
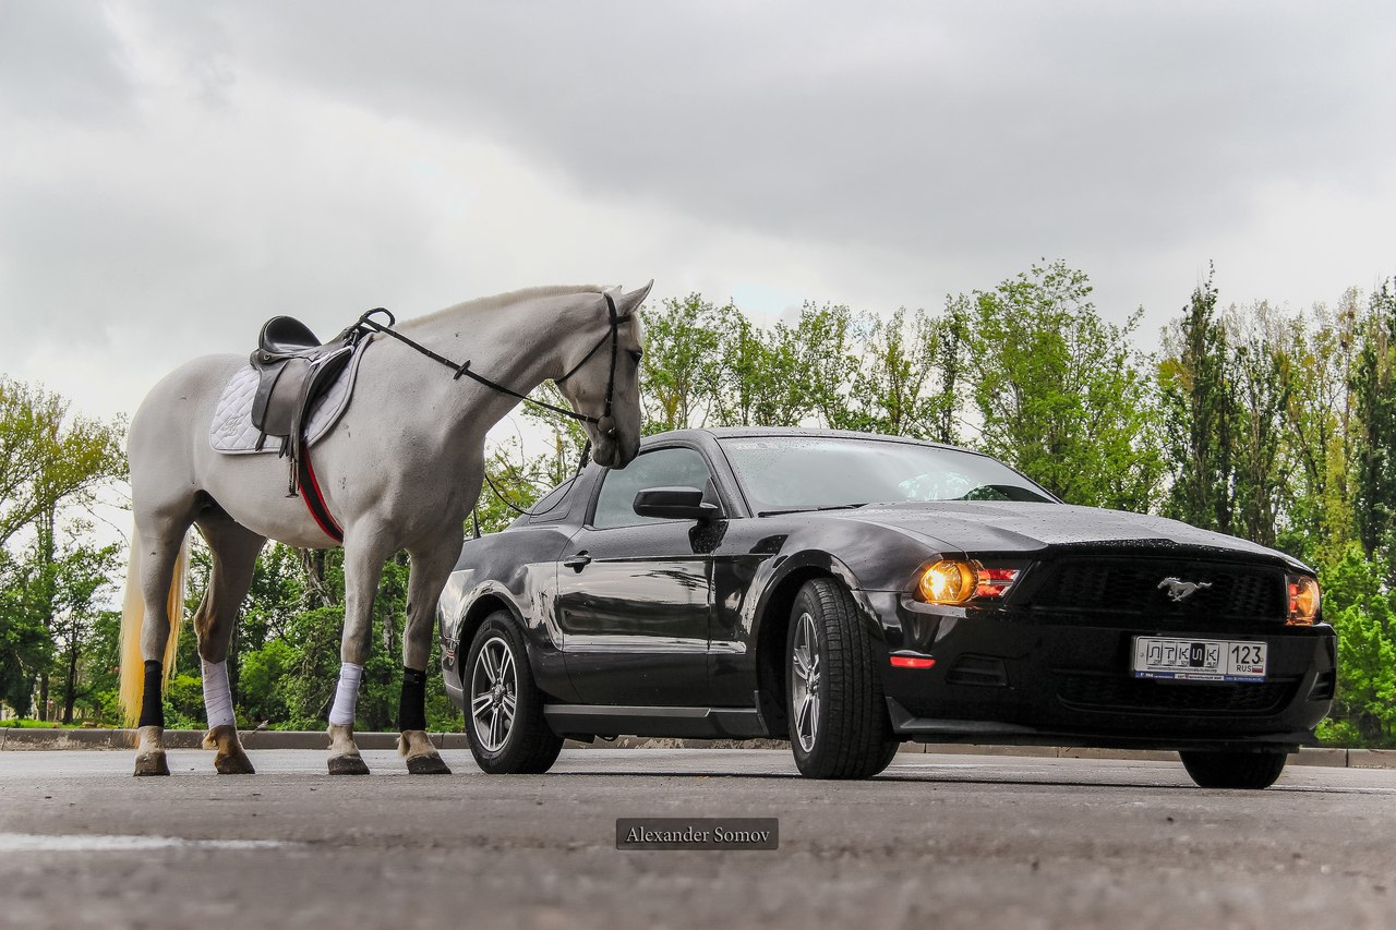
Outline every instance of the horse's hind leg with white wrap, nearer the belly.
<svg viewBox="0 0 1396 930"><path fill-rule="evenodd" d="M228 648L237 624L237 609L253 582L257 553L267 539L221 511L201 514L198 528L214 556L208 591L194 614L204 673L204 711L208 715L204 748L216 750L214 768L221 775L251 775L255 769L237 740L233 693L228 680Z"/></svg>

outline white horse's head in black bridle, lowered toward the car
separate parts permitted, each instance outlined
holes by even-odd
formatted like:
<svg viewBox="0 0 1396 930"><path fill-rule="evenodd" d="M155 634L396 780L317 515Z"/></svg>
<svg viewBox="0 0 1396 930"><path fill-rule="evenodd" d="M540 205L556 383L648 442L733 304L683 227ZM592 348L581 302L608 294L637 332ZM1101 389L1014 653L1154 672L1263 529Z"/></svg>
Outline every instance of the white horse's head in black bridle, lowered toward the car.
<svg viewBox="0 0 1396 930"><path fill-rule="evenodd" d="M613 288L600 295L596 325L579 331L582 338L564 357L567 374L556 381L574 411L599 420L584 422L582 427L592 441L592 458L606 468L625 468L639 454L644 332L638 310L653 283L630 293Z"/></svg>

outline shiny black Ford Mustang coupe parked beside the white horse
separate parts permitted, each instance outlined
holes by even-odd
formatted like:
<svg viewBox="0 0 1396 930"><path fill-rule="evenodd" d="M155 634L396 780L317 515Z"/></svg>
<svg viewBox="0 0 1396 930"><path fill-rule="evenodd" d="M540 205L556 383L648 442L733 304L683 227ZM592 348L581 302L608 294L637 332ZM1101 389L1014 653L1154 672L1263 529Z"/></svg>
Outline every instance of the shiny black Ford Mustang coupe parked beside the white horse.
<svg viewBox="0 0 1396 930"><path fill-rule="evenodd" d="M789 739L812 778L906 740L1166 748L1266 788L1335 683L1294 559L860 433L652 436L466 542L440 613L487 772L624 733Z"/></svg>

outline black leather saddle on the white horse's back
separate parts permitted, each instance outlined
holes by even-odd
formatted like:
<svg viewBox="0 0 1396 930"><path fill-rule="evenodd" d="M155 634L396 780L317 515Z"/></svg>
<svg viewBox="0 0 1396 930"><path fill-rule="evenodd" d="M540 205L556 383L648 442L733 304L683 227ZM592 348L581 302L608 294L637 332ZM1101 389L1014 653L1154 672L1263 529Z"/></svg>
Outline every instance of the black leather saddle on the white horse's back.
<svg viewBox="0 0 1396 930"><path fill-rule="evenodd" d="M290 457L288 497L300 490L306 420L314 402L335 383L359 348L364 330L355 324L329 342L321 342L300 320L272 317L261 330L251 366L257 370L251 422L261 431L257 448L268 437L281 440L281 455Z"/></svg>

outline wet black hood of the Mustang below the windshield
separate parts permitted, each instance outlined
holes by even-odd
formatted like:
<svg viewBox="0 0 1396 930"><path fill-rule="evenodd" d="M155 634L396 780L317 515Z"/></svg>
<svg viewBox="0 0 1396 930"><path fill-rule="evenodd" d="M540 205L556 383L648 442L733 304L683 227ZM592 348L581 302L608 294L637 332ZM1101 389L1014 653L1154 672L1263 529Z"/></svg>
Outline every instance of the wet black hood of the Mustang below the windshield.
<svg viewBox="0 0 1396 930"><path fill-rule="evenodd" d="M878 524L921 536L942 552L1025 552L1051 547L1224 550L1262 556L1295 567L1301 563L1265 546L1198 529L1163 517L1099 507L1020 501L931 501L870 504L828 511L843 519Z"/></svg>

